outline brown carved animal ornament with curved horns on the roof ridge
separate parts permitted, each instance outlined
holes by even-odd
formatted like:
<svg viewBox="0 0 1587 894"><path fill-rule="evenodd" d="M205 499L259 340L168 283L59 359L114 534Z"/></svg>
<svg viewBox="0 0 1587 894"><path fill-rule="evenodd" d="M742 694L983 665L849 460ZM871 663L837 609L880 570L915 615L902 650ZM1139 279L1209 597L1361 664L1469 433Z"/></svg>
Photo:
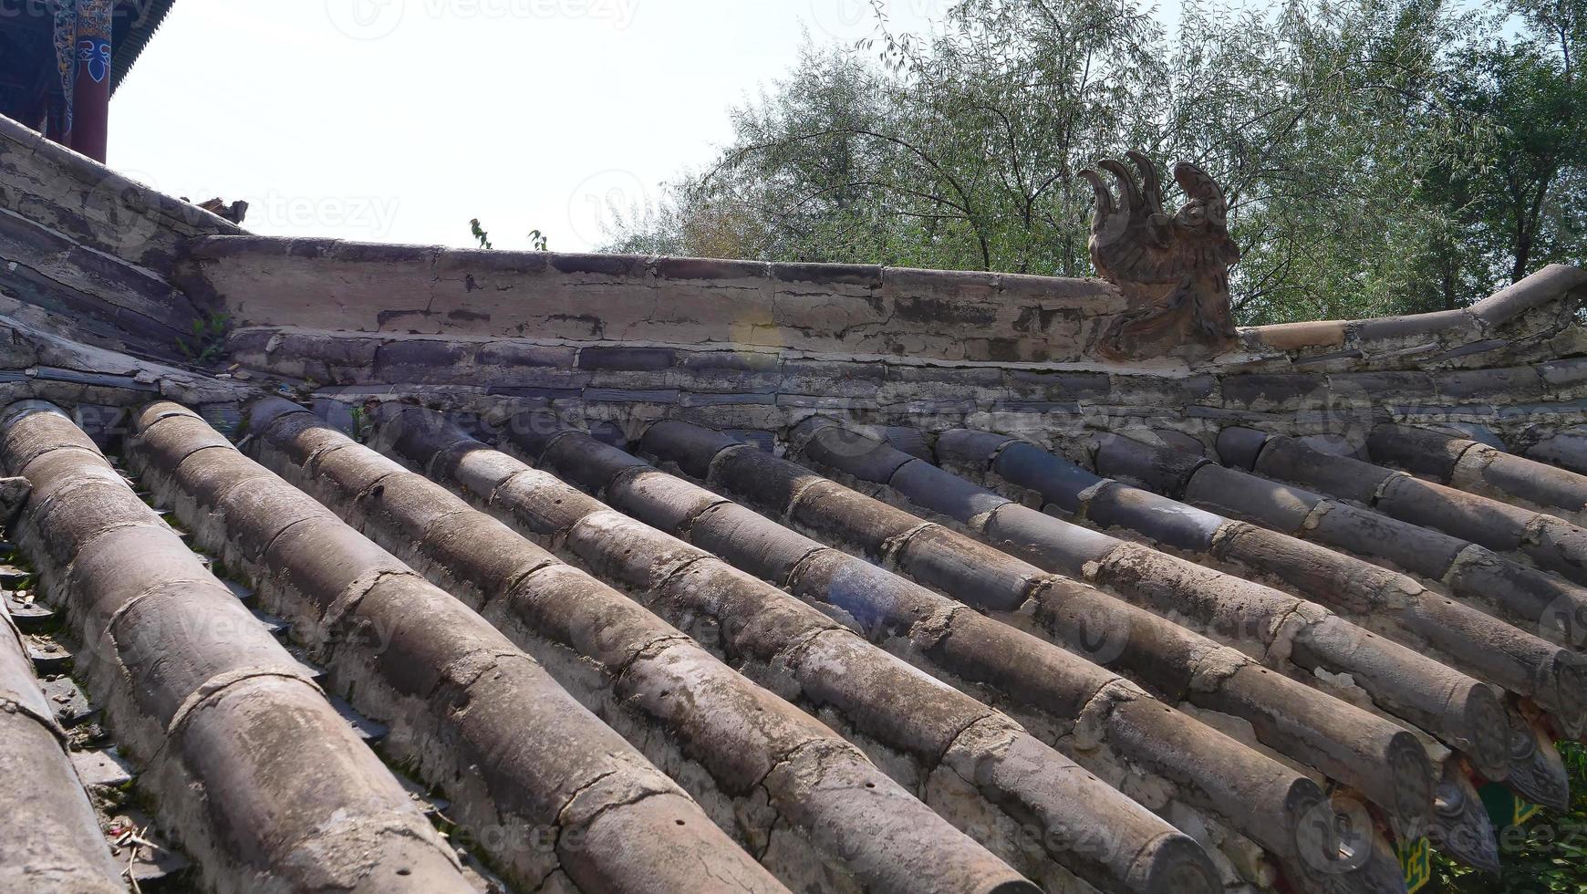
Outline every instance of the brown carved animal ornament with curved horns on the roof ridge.
<svg viewBox="0 0 1587 894"><path fill-rule="evenodd" d="M1097 164L1117 181L1117 198L1095 170L1081 171L1097 192L1092 262L1127 300L1095 349L1114 359L1197 359L1230 348L1228 267L1239 249L1228 238L1224 191L1201 168L1179 162L1174 179L1187 202L1168 216L1157 167L1144 152L1125 157L1139 170L1139 184L1124 162Z"/></svg>

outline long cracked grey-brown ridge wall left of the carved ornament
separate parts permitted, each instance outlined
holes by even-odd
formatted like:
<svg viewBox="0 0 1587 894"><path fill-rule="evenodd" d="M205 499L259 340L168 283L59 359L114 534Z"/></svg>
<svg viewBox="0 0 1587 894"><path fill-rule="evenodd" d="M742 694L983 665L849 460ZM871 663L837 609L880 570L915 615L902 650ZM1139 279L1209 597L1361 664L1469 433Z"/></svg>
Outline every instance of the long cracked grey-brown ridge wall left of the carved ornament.
<svg viewBox="0 0 1587 894"><path fill-rule="evenodd" d="M243 324L1071 362L1124 310L1095 279L336 240L195 240L183 283Z"/></svg>

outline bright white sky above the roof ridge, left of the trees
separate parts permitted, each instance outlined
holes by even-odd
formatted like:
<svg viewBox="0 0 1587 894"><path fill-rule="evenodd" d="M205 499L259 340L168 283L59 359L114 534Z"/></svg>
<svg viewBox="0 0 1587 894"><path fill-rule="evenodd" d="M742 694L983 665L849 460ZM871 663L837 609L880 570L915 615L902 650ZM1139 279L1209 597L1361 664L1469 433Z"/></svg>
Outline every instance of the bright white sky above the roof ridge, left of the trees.
<svg viewBox="0 0 1587 894"><path fill-rule="evenodd" d="M886 0L919 29L951 0ZM605 241L713 157L727 110L870 0L179 0L111 103L110 165L251 203L257 233Z"/></svg>

